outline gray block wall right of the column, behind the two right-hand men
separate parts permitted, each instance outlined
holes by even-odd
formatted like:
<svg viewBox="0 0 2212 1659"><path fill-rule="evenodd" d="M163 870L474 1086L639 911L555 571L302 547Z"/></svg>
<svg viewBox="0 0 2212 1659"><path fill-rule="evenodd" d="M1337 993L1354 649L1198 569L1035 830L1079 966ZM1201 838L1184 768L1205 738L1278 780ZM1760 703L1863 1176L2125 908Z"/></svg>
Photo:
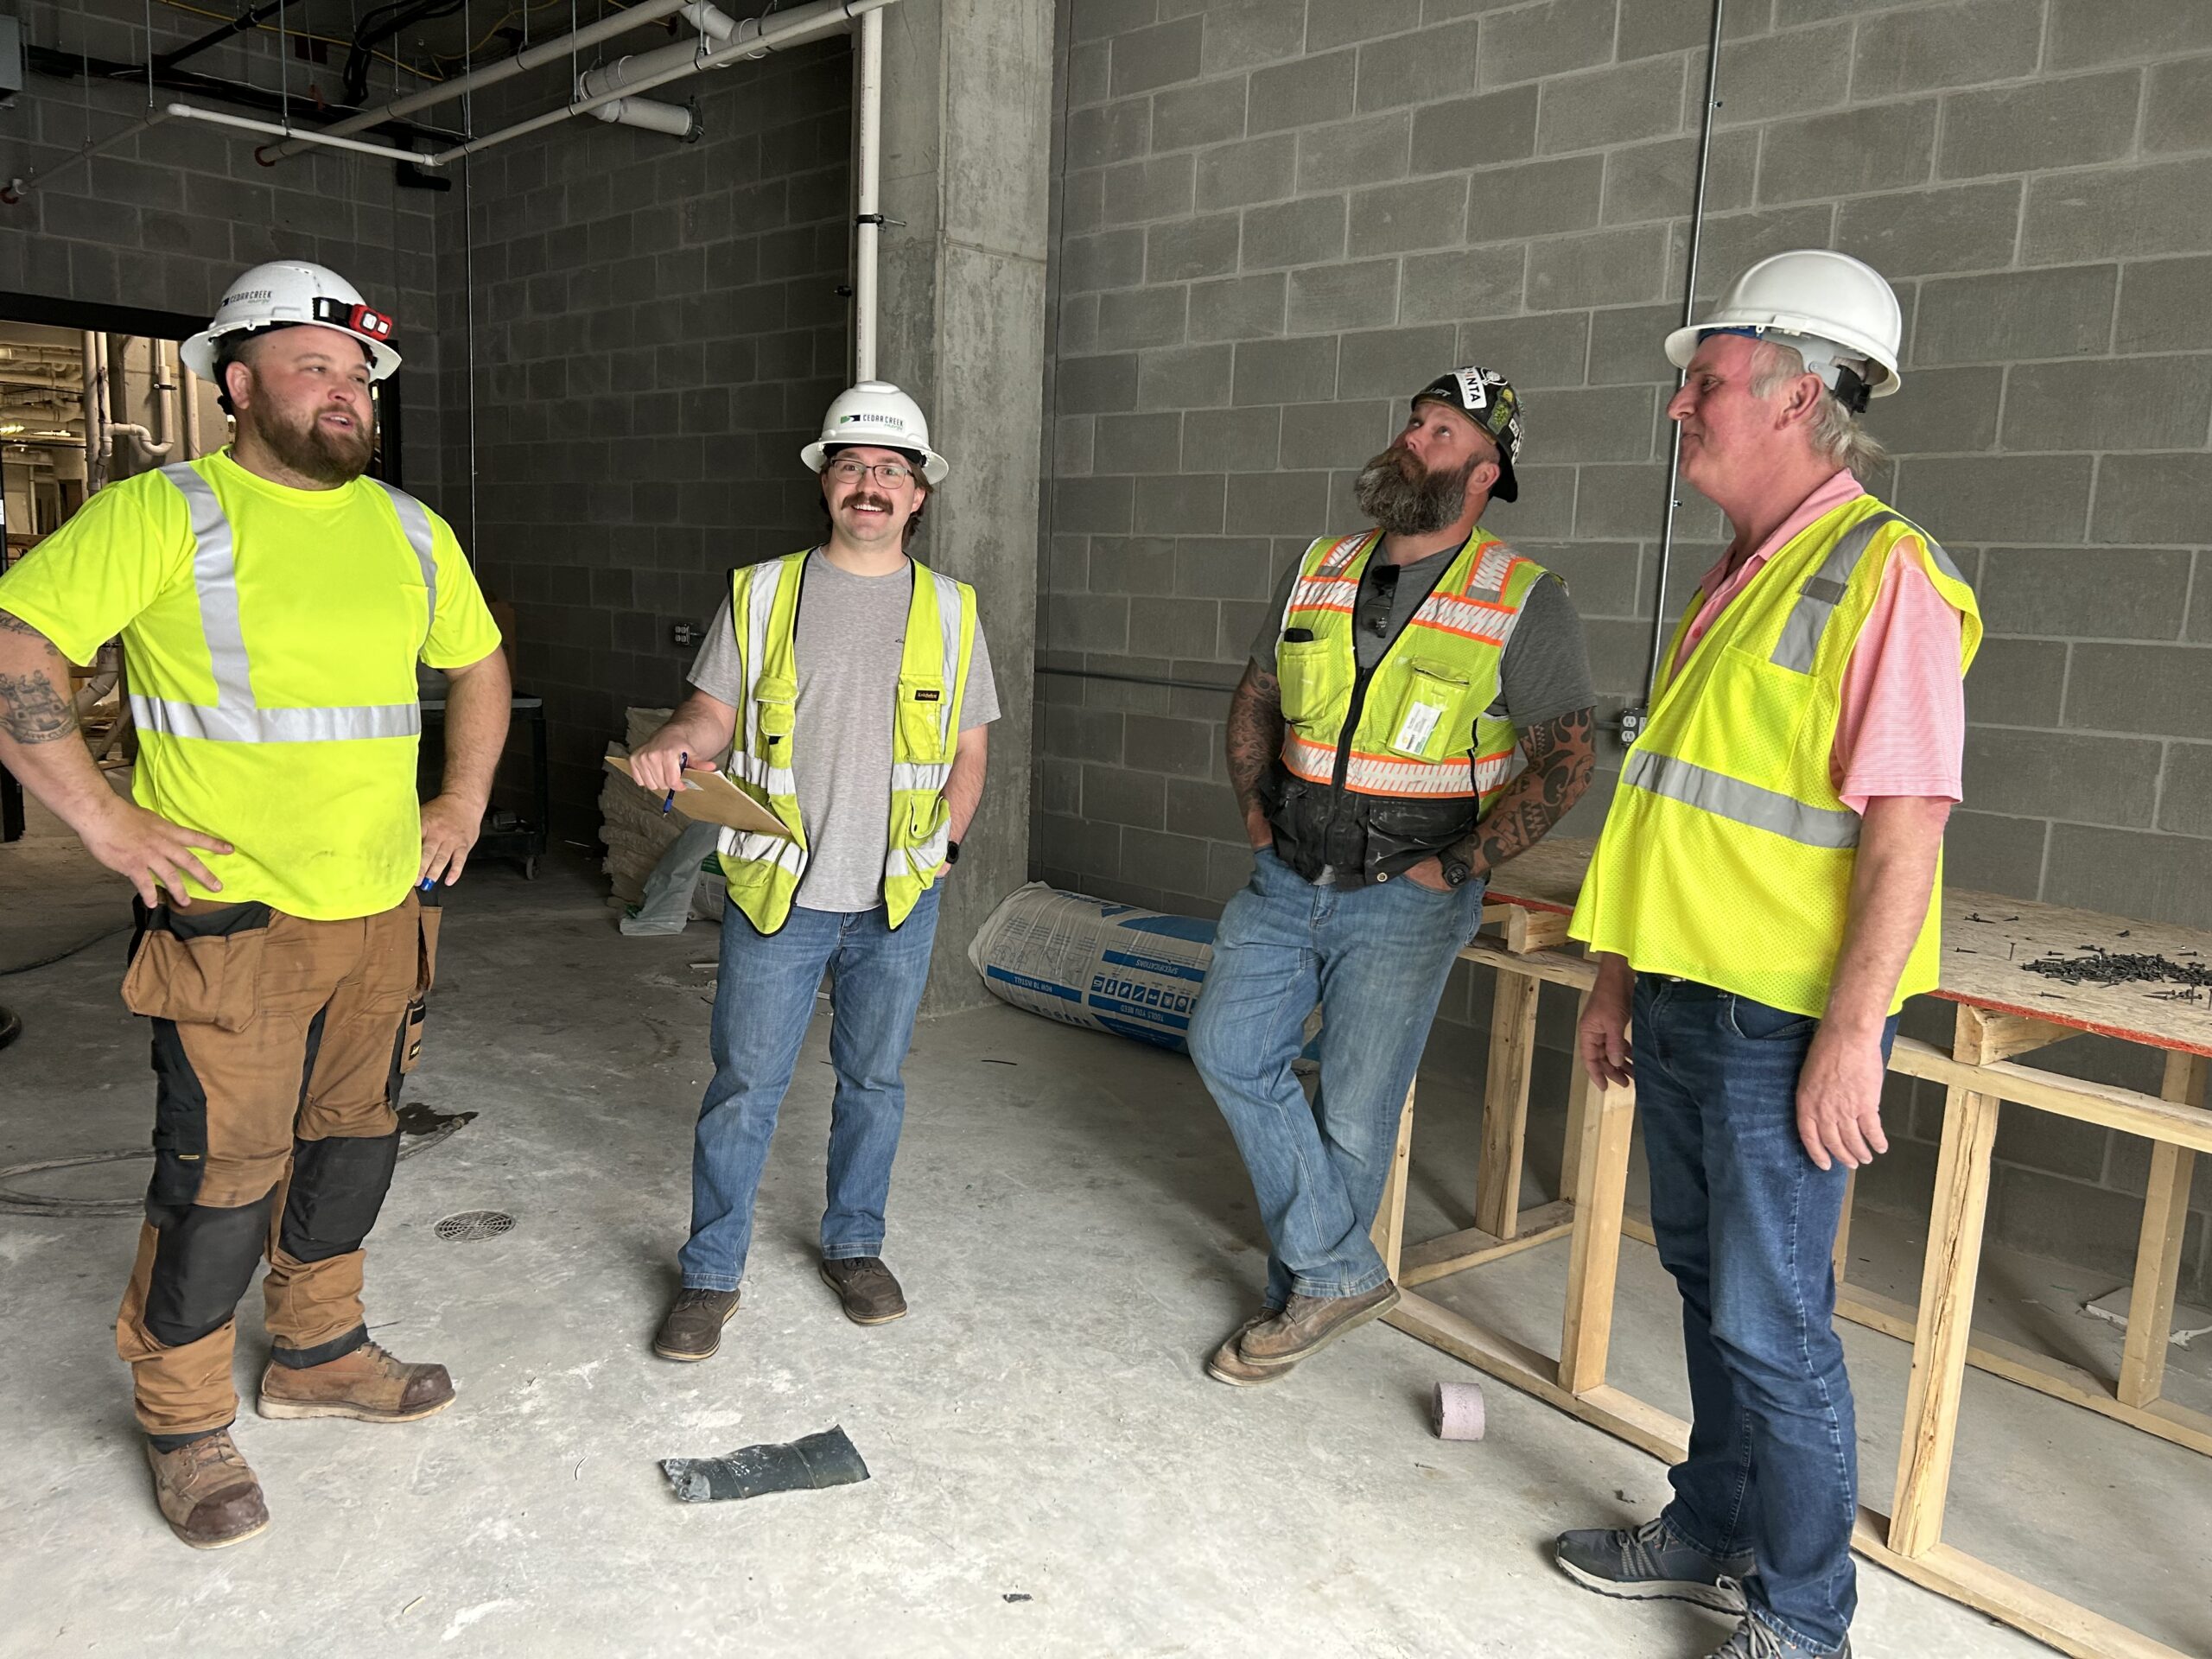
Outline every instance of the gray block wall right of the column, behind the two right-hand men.
<svg viewBox="0 0 2212 1659"><path fill-rule="evenodd" d="M1360 526L1356 467L1453 363L1524 392L1522 500L1491 522L1568 577L1606 712L1639 697L1710 15L1071 0L1042 876L1201 914L1243 883L1225 688L1272 582ZM1896 449L1874 487L1989 622L1951 880L2212 925L2212 7L1732 0L1728 20L1699 290L1790 246L1891 279L1907 385L1874 407ZM1723 524L1686 491L1679 533L1668 622ZM1595 834L1610 776L1566 832ZM1484 1002L1455 982L1444 1015L1480 1024ZM2095 1040L2057 1064L2141 1068ZM2015 1119L1993 1237L2126 1276L2141 1148ZM1938 1121L1940 1099L1898 1102L1869 1203L1922 1201ZM2192 1217L2199 1290L2205 1237Z"/></svg>

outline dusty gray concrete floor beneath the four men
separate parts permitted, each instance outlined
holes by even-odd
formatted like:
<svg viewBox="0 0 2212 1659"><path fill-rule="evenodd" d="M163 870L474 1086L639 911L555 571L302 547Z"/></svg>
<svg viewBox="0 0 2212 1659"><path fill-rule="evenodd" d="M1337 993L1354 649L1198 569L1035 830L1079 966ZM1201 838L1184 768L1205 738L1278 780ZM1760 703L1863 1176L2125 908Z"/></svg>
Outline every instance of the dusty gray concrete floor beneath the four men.
<svg viewBox="0 0 2212 1659"><path fill-rule="evenodd" d="M95 885L51 838L0 847L0 969L44 953L24 918ZM84 931L113 887L104 902ZM1276 1387L1208 1383L1261 1276L1219 1117L1183 1060L1011 1009L918 1033L889 1243L907 1321L858 1329L814 1279L816 1022L745 1307L717 1360L653 1358L706 1077L712 975L692 964L712 956L703 925L619 938L575 858L535 885L469 874L407 1097L482 1115L400 1164L369 1261L378 1340L449 1365L460 1400L409 1427L248 1407L274 1526L246 1546L186 1551L153 1509L108 1332L135 1223L0 1214L0 1652L1699 1659L1719 1641L1694 1608L1606 1601L1546 1559L1559 1526L1663 1500L1630 1447L1495 1385L1489 1438L1442 1444L1427 1389L1473 1371L1380 1325ZM29 1026L0 1055L0 1166L144 1146L146 1040L117 975L95 947L0 978ZM1425 1099L1418 1234L1462 1225L1471 1192L1464 1068L1440 1057ZM131 1192L142 1168L44 1190ZM476 1208L515 1228L434 1237ZM1548 1345L1562 1272L1564 1248L1540 1250L1442 1296ZM1681 1409L1674 1301L1641 1245L1621 1283L1615 1383ZM1905 1349L1847 1343L1880 1493ZM250 1389L259 1296L239 1347ZM679 1506L655 1464L830 1425L867 1484ZM2203 1652L2205 1475L1978 1376L1953 1542ZM1882 1571L1860 1584L1863 1655L2039 1652Z"/></svg>

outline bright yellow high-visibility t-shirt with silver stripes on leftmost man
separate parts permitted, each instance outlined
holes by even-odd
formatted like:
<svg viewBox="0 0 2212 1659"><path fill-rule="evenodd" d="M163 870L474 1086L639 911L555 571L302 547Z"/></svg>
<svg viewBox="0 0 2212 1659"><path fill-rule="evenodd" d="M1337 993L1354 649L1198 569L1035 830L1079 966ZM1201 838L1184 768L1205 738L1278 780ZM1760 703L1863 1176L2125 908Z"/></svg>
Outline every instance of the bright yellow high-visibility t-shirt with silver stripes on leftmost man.
<svg viewBox="0 0 2212 1659"><path fill-rule="evenodd" d="M0 575L0 611L80 664L122 635L133 796L237 847L204 854L219 898L310 920L407 896L422 860L416 661L465 668L500 648L436 513L372 478L288 489L228 449L93 495Z"/></svg>

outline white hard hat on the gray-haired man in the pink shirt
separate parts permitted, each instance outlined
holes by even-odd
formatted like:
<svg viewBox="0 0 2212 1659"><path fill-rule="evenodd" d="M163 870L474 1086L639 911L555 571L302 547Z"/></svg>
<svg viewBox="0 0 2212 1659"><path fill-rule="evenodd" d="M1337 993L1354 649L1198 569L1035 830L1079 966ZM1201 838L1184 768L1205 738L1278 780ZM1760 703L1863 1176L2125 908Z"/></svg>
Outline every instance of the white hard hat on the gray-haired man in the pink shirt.
<svg viewBox="0 0 2212 1659"><path fill-rule="evenodd" d="M1703 323L1666 336L1668 363L1688 367L1712 332L1794 345L1829 392L1838 389L1838 361L1865 380L1869 396L1887 398L1898 389L1905 314L1882 274L1849 254L1827 248L1767 254L1730 285Z"/></svg>

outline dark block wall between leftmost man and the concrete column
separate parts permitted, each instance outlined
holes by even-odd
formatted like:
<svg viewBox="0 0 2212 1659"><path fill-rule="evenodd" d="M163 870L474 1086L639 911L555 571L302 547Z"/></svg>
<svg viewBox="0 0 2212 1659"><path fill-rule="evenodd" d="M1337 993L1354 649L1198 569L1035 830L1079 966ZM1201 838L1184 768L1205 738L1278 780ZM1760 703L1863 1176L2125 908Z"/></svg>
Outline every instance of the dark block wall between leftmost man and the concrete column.
<svg viewBox="0 0 2212 1659"><path fill-rule="evenodd" d="M849 62L834 38L701 75L697 144L566 122L447 197L447 467L462 502L473 469L478 571L546 699L560 834L593 836L622 710L684 695L675 626L823 531L799 449L849 365ZM560 80L487 95L478 131Z"/></svg>

